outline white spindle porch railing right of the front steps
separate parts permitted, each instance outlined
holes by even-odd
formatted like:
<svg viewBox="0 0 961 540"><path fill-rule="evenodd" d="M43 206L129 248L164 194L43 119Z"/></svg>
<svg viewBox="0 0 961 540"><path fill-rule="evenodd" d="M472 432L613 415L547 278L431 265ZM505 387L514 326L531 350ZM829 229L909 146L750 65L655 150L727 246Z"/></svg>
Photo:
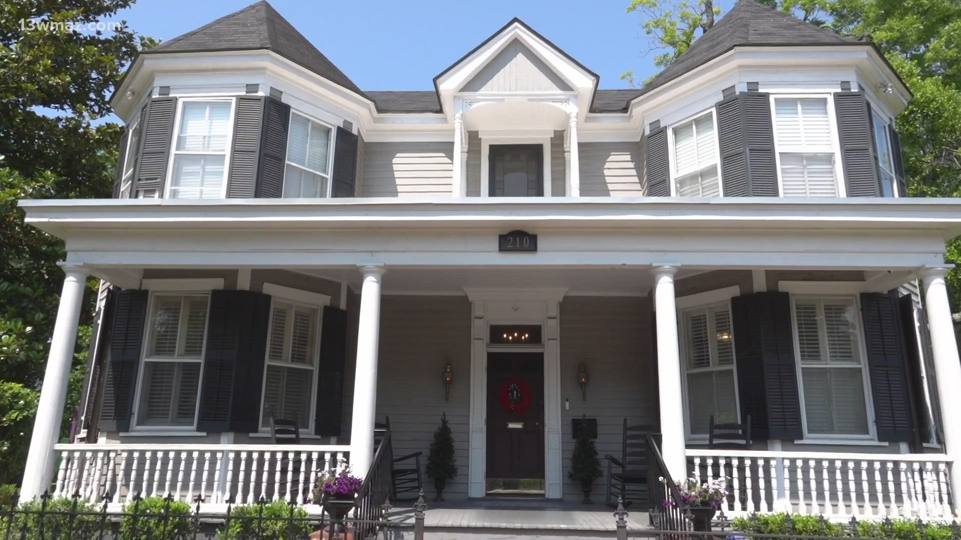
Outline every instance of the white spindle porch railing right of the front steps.
<svg viewBox="0 0 961 540"><path fill-rule="evenodd" d="M829 518L950 518L945 454L688 449L691 477L727 479L728 516L793 511Z"/></svg>

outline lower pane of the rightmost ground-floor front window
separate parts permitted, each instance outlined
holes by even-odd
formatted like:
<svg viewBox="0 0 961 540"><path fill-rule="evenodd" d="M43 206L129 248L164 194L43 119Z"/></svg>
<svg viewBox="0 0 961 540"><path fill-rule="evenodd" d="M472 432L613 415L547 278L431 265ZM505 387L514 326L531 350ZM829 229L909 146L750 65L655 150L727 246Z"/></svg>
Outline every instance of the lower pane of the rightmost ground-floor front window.
<svg viewBox="0 0 961 540"><path fill-rule="evenodd" d="M801 374L809 433L868 433L861 368L811 367Z"/></svg>

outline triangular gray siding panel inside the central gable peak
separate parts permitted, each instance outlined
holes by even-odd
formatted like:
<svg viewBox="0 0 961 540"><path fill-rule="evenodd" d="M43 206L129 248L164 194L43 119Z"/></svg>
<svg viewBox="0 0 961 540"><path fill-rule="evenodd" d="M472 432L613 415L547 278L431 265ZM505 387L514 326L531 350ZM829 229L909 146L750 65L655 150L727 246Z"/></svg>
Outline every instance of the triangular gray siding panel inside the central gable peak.
<svg viewBox="0 0 961 540"><path fill-rule="evenodd" d="M571 91L554 70L514 39L460 88L464 92Z"/></svg>

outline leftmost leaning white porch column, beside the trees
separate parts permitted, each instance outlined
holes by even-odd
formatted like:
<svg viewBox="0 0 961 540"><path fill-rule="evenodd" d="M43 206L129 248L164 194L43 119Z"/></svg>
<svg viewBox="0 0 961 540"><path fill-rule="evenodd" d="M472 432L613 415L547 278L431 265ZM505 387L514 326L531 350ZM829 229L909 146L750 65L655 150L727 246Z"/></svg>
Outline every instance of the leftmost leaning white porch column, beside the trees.
<svg viewBox="0 0 961 540"><path fill-rule="evenodd" d="M70 364L77 341L77 323L84 303L86 268L63 266L63 292L57 309L57 322L50 340L50 356L40 388L37 419L30 438L30 452L23 471L20 500L30 501L39 497L54 478L54 444L60 437L63 421L63 404L66 402L66 385L70 379Z"/></svg>

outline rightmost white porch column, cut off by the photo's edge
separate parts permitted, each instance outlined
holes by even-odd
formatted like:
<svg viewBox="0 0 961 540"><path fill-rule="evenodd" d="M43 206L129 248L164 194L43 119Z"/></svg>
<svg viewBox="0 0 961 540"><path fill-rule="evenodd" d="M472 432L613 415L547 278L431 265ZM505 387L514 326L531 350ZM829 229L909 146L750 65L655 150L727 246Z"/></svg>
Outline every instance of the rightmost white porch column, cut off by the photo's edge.
<svg viewBox="0 0 961 540"><path fill-rule="evenodd" d="M945 283L947 268L932 268L922 272L924 303L927 309L927 328L931 334L934 371L941 396L942 429L945 431L946 454L954 458L951 465L950 491L954 494L954 512L961 511L961 400L954 399L961 388L961 362L958 359L954 324L948 304Z"/></svg>

